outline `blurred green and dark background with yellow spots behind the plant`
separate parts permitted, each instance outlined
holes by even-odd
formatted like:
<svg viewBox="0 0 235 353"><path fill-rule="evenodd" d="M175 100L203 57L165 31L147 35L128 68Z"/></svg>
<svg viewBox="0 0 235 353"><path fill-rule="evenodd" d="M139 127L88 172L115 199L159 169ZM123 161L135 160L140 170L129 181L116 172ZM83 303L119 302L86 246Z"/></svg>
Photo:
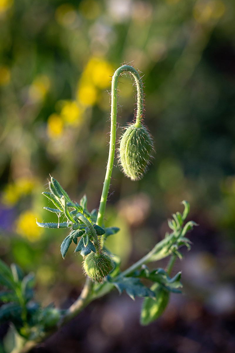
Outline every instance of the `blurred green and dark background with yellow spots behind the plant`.
<svg viewBox="0 0 235 353"><path fill-rule="evenodd" d="M110 76L124 62L144 75L156 152L138 182L116 159L105 222L121 231L107 246L126 268L164 237L183 199L200 224L174 269L184 295L162 318L141 327L142 300L114 291L33 352L235 351L234 12L233 0L0 0L0 256L36 273L36 299L66 308L84 283L81 256L60 254L66 232L36 218L57 220L43 209L49 173L98 208ZM134 118L132 84L120 79L118 137Z"/></svg>

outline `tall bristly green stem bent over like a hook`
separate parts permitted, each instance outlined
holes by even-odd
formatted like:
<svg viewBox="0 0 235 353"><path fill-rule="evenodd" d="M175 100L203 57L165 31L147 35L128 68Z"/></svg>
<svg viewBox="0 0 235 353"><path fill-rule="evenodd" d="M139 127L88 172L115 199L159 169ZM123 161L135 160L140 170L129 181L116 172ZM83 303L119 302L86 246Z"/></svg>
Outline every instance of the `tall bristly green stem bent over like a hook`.
<svg viewBox="0 0 235 353"><path fill-rule="evenodd" d="M130 72L136 82L137 88L137 113L136 113L136 124L140 125L143 118L143 86L142 80L138 72L134 69L134 67L129 65L120 66L114 73L112 78L112 91L111 91L111 130L110 130L110 144L109 144L109 159L107 163L107 169L105 174L105 180L103 185L103 191L100 199L100 207L97 216L97 224L98 226L103 225L105 207L107 202L107 196L109 193L110 180L113 169L113 161L115 155L115 144L116 144L116 126L117 126L117 91L118 91L118 78L120 74L124 71Z"/></svg>

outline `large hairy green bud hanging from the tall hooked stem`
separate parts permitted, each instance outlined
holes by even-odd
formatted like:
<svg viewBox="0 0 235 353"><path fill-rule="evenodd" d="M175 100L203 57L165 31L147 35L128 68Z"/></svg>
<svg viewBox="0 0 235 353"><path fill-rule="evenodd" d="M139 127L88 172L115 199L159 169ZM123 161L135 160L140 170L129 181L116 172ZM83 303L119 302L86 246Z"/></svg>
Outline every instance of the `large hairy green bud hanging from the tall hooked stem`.
<svg viewBox="0 0 235 353"><path fill-rule="evenodd" d="M120 139L119 162L131 180L140 180L147 170L153 140L140 122L131 124Z"/></svg>

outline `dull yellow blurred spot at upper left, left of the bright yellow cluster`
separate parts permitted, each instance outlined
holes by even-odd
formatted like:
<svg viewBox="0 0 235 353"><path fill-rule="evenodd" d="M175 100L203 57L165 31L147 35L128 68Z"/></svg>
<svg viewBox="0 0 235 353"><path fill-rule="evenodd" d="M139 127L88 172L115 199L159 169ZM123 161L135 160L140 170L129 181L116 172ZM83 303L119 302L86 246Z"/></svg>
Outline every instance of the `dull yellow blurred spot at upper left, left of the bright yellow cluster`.
<svg viewBox="0 0 235 353"><path fill-rule="evenodd" d="M32 102L43 100L50 88L50 80L46 75L39 75L35 78L29 88L29 98Z"/></svg>

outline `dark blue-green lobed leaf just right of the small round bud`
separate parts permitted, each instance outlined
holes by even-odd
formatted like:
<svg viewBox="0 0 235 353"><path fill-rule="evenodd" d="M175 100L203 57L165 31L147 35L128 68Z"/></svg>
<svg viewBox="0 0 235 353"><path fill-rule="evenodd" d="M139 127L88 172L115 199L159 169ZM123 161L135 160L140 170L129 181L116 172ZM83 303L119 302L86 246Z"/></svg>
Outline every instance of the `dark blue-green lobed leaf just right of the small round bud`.
<svg viewBox="0 0 235 353"><path fill-rule="evenodd" d="M119 293L122 293L124 290L135 300L135 297L154 297L154 292L151 291L148 287L144 286L139 279L134 277L119 277L114 279L112 283L118 289Z"/></svg>

